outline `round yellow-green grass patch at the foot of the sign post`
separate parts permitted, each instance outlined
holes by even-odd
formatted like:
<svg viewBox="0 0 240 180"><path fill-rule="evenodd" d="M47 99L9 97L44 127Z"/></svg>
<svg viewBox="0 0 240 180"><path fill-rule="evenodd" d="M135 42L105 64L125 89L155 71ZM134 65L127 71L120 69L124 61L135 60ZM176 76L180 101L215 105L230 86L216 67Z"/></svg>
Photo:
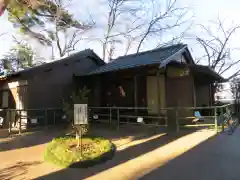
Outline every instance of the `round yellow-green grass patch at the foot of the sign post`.
<svg viewBox="0 0 240 180"><path fill-rule="evenodd" d="M47 145L44 159L61 167L69 167L97 159L112 149L113 144L103 138L83 138L82 146L78 148L77 140L73 137L56 138Z"/></svg>

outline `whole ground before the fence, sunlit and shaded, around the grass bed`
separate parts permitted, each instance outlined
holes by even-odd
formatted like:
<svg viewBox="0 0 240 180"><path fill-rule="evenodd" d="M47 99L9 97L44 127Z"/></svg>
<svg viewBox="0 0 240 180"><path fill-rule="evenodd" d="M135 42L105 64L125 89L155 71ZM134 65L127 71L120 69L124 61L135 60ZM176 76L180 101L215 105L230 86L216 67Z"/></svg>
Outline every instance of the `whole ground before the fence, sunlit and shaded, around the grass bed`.
<svg viewBox="0 0 240 180"><path fill-rule="evenodd" d="M87 169L62 169L43 161L46 143L61 129L8 138L0 134L0 179L240 179L239 129L232 136L124 126L120 131L96 126L91 132L111 139L117 152L112 160Z"/></svg>

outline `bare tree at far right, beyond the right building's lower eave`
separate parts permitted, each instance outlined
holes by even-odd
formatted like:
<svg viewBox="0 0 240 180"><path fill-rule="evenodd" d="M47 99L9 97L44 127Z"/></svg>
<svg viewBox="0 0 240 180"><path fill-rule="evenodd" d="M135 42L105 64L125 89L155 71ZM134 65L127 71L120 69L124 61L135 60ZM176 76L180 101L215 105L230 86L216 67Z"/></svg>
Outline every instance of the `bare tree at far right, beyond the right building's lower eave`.
<svg viewBox="0 0 240 180"><path fill-rule="evenodd" d="M233 38L234 33L240 29L240 25L226 29L221 20L218 20L215 24L217 25L218 34L201 25L208 38L206 36L205 38L197 37L196 40L203 47L208 66L222 75L240 63L240 60L232 60L230 57L231 51L233 51L230 40ZM238 75L240 75L240 71L233 72L228 79L230 80Z"/></svg>

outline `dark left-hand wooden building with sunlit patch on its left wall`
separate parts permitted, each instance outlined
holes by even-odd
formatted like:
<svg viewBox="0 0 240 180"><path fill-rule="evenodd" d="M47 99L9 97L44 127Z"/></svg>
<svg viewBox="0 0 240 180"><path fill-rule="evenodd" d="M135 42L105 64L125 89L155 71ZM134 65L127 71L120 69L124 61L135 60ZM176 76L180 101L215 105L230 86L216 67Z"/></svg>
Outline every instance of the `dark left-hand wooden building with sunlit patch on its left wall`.
<svg viewBox="0 0 240 180"><path fill-rule="evenodd" d="M92 50L9 74L0 79L0 108L62 108L73 88L73 75L104 65Z"/></svg>

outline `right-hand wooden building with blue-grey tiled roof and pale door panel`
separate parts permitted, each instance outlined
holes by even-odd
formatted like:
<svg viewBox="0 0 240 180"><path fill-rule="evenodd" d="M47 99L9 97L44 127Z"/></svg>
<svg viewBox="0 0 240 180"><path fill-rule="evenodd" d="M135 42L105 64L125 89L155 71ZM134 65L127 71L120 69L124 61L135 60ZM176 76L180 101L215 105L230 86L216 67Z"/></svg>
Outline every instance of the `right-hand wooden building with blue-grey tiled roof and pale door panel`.
<svg viewBox="0 0 240 180"><path fill-rule="evenodd" d="M93 90L91 106L146 107L151 115L167 113L167 107L211 106L211 86L224 80L209 67L195 64L184 44L119 57L76 75L76 84L83 79ZM187 114L193 115L180 111L180 116Z"/></svg>

